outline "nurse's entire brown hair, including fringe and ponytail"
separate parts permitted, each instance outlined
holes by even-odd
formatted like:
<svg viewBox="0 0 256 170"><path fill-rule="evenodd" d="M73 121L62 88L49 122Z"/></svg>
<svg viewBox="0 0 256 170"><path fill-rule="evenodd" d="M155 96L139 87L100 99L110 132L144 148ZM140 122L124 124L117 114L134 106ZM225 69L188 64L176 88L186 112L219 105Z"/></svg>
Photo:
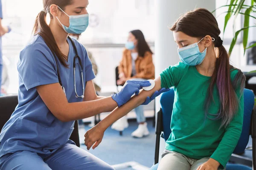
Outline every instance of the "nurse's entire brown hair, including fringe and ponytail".
<svg viewBox="0 0 256 170"><path fill-rule="evenodd" d="M58 5L61 9L65 10L65 7L72 3L73 0L43 0L44 10L39 12L38 16L36 17L33 29L33 34L41 35L41 37L43 37L49 49L52 51L52 53L55 53L61 64L65 67L68 67L67 63L65 62L65 58L67 58L67 56L65 56L58 48L57 42L52 35L52 31L46 23L46 15L47 13L50 14L50 6L52 4ZM53 18L51 14L50 17L51 19Z"/></svg>

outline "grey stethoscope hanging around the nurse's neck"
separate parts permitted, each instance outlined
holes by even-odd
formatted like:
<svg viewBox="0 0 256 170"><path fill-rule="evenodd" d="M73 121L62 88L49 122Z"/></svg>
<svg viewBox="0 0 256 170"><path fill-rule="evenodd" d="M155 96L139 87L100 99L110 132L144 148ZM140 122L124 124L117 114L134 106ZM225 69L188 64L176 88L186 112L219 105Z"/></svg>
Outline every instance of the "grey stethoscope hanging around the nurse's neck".
<svg viewBox="0 0 256 170"><path fill-rule="evenodd" d="M77 49L76 49L76 45L75 43L73 42L73 40L68 36L68 38L70 39L71 43L72 43L72 46L73 48L75 49L75 52L76 52L76 56L74 57L74 60L73 60L73 75L74 75L74 87L75 87L75 93L76 93L76 98L84 98L84 79L83 79L83 66L82 66L82 61L81 61L81 58L79 57L78 55L78 52L77 52ZM55 61L56 61L56 64L57 64L57 74L58 74L58 81L59 81L59 84L61 85L65 95L66 95L66 92L65 92L65 87L62 85L62 82L61 82L61 76L60 76L60 72L59 72L59 69L58 69L58 62L57 62L57 58L55 56L55 53L53 52L52 53L54 55L54 58L55 58ZM76 59L78 59L79 61L79 64L80 64L80 67L81 67L81 78L82 78L82 85L83 85L83 94L81 96L79 96L76 92Z"/></svg>

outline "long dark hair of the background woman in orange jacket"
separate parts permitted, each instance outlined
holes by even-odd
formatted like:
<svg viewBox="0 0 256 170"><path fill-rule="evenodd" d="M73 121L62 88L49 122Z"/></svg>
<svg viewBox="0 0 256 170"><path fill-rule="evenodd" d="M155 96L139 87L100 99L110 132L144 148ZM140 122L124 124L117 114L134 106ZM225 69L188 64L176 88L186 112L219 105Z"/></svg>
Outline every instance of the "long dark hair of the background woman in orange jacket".
<svg viewBox="0 0 256 170"><path fill-rule="evenodd" d="M151 54L153 54L148 46L148 43L145 40L143 33L139 29L131 31L131 34L134 35L134 37L138 41L137 49L140 57L144 57L145 52L150 52Z"/></svg>

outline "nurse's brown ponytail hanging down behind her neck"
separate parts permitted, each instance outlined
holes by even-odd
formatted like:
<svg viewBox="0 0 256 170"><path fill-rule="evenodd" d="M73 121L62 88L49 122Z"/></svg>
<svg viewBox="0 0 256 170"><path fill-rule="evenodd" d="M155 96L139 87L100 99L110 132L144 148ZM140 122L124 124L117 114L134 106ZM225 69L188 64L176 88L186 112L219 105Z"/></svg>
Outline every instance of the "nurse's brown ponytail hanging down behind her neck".
<svg viewBox="0 0 256 170"><path fill-rule="evenodd" d="M47 13L45 11L39 12L38 16L35 19L33 35L41 35L41 37L44 39L45 43L51 50L52 54L55 54L55 56L58 57L59 61L63 66L68 67L65 61L67 56L65 56L58 48L57 42L55 41L52 31L45 21L46 14Z"/></svg>

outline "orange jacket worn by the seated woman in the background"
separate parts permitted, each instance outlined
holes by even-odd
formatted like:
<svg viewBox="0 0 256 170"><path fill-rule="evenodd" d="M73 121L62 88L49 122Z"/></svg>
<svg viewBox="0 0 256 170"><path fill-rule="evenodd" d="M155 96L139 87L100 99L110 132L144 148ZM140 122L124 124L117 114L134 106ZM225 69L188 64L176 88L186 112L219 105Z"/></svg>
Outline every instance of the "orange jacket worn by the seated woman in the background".
<svg viewBox="0 0 256 170"><path fill-rule="evenodd" d="M154 79L154 64L152 59L152 54L150 52L145 52L144 57L138 56L135 61L135 69L137 74L131 77L132 73L132 58L131 51L125 49L123 51L122 60L119 64L119 73L124 72L127 80L131 78L145 78Z"/></svg>

